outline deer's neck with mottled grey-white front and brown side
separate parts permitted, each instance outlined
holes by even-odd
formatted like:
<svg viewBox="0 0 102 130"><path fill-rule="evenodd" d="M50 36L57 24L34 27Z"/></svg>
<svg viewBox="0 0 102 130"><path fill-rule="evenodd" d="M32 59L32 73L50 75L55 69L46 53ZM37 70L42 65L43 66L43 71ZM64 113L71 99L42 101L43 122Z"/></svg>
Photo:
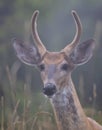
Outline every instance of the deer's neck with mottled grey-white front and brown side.
<svg viewBox="0 0 102 130"><path fill-rule="evenodd" d="M52 98L59 130L88 130L87 118L78 100L72 80Z"/></svg>

